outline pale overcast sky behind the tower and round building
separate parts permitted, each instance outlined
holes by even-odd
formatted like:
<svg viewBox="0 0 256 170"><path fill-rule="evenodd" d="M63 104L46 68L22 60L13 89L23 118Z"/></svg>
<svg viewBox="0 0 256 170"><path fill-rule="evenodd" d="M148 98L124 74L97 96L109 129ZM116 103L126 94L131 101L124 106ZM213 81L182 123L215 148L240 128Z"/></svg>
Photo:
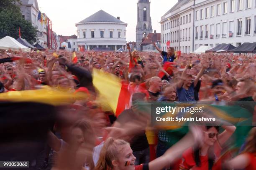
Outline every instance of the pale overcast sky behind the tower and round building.
<svg viewBox="0 0 256 170"><path fill-rule="evenodd" d="M178 0L151 0L153 30L160 32L160 20ZM120 17L127 23L126 40L136 41L138 0L38 0L38 6L52 20L53 31L58 35L77 35L76 23L99 10Z"/></svg>

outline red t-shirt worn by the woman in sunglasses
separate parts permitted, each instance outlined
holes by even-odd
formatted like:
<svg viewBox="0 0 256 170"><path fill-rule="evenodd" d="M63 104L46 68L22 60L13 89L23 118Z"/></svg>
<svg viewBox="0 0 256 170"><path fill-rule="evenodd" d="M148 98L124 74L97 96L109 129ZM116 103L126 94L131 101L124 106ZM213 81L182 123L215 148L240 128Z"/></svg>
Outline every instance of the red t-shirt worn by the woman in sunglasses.
<svg viewBox="0 0 256 170"><path fill-rule="evenodd" d="M212 167L212 170L220 170L221 169L221 161L217 161L220 158L220 147L215 145L214 147L215 153L215 163ZM191 148L186 150L182 155L182 163L179 165L179 168L182 170L207 170L208 169L208 155L200 156L201 167L197 167L194 160L194 151Z"/></svg>

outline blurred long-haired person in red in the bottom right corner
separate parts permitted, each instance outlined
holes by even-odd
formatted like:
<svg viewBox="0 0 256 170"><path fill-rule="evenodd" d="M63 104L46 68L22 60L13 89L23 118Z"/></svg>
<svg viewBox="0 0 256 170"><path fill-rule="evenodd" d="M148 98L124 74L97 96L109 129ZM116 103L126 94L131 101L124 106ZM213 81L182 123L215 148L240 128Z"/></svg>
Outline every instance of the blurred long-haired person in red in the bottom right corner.
<svg viewBox="0 0 256 170"><path fill-rule="evenodd" d="M226 166L228 170L256 170L256 127L251 129L243 153L228 161Z"/></svg>

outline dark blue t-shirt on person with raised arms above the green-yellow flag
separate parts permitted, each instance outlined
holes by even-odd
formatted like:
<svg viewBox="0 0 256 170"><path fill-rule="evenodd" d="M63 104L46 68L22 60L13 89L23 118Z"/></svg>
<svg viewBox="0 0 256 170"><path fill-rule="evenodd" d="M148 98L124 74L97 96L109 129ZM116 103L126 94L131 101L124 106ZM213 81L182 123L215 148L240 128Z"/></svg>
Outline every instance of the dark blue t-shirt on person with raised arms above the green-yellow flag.
<svg viewBox="0 0 256 170"><path fill-rule="evenodd" d="M188 90L183 87L177 88L179 102L195 102L194 82L191 83Z"/></svg>

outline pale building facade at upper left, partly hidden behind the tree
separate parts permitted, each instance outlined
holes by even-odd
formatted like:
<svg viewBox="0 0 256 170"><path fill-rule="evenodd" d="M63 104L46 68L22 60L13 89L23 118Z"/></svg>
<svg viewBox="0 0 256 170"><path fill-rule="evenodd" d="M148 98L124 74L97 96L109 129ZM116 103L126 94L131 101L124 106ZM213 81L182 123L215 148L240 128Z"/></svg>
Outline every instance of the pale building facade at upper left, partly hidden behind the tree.
<svg viewBox="0 0 256 170"><path fill-rule="evenodd" d="M44 47L44 22L41 23L37 20L39 7L37 0L20 0L20 3L16 3L20 7L20 12L25 20L31 21L32 25L37 28L38 43Z"/></svg>

